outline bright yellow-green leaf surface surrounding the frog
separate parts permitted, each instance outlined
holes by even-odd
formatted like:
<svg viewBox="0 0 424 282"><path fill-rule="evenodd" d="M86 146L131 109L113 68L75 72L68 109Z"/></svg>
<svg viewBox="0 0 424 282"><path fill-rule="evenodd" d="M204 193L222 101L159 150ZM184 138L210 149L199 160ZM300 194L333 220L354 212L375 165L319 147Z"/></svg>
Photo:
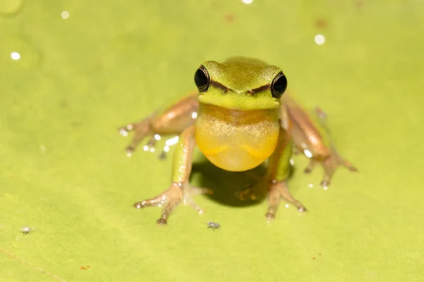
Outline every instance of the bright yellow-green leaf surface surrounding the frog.
<svg viewBox="0 0 424 282"><path fill-rule="evenodd" d="M0 0L0 280L423 281L423 15L421 0ZM281 66L360 172L324 190L295 157L307 214L266 223L266 202L198 196L206 214L156 226L159 208L132 204L169 186L170 159L126 157L117 128L235 55Z"/></svg>

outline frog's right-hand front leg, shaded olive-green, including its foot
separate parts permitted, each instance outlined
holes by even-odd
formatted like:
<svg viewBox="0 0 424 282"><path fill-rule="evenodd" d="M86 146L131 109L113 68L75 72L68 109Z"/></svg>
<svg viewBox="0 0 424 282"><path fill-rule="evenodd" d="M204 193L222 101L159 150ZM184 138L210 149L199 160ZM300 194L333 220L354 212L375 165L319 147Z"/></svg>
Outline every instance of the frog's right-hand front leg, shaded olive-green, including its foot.
<svg viewBox="0 0 424 282"><path fill-rule="evenodd" d="M278 145L269 158L266 181L269 183L268 212L265 214L267 219L274 219L280 204L281 198L295 204L299 212L306 212L305 206L296 200L288 191L287 180L290 174L290 157L293 150L293 140L288 132L280 128L278 136Z"/></svg>

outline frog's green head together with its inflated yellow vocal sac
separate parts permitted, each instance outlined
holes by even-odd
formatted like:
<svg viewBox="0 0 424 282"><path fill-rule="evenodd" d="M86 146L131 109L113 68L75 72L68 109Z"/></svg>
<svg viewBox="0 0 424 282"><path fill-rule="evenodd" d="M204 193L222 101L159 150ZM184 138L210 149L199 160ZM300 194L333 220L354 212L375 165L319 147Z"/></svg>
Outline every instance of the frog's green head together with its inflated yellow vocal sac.
<svg viewBox="0 0 424 282"><path fill-rule="evenodd" d="M240 57L207 61L194 82L199 90L196 142L209 161L228 171L245 171L271 156L287 87L280 68Z"/></svg>

